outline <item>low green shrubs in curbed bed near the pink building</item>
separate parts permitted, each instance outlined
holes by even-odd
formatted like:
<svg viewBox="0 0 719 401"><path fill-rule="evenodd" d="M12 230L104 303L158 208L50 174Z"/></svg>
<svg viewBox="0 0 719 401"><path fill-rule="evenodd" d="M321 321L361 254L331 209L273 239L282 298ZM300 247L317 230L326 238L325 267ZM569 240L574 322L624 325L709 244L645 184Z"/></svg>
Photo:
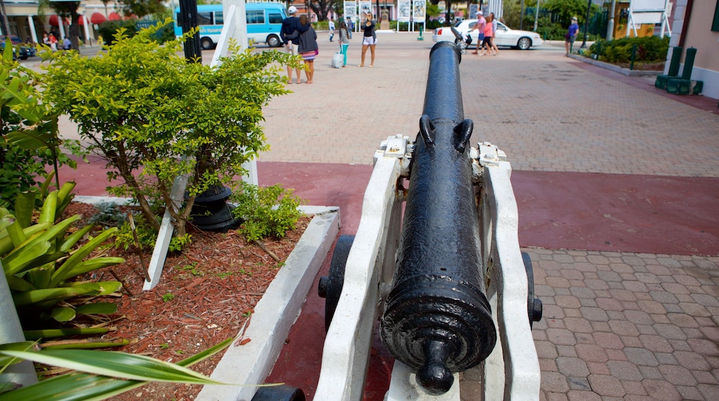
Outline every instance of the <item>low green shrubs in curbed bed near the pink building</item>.
<svg viewBox="0 0 719 401"><path fill-rule="evenodd" d="M593 43L585 55L596 55L598 60L607 63L629 63L632 48L636 45L634 61L637 63L656 63L667 60L669 37L622 37L615 40L600 40Z"/></svg>

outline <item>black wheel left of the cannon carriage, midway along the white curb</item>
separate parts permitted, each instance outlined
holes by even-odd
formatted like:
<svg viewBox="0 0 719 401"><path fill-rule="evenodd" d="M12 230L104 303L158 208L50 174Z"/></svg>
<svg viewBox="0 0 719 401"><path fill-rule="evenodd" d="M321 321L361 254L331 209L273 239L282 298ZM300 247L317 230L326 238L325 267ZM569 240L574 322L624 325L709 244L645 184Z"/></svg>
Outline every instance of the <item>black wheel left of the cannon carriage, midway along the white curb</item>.
<svg viewBox="0 0 719 401"><path fill-rule="evenodd" d="M344 267L347 265L349 249L352 249L354 235L341 235L337 239L332 252L332 261L329 264L329 276L321 277L318 295L324 298L324 331L329 330L329 323L332 322L334 310L339 303L339 295L342 295L344 284Z"/></svg>

